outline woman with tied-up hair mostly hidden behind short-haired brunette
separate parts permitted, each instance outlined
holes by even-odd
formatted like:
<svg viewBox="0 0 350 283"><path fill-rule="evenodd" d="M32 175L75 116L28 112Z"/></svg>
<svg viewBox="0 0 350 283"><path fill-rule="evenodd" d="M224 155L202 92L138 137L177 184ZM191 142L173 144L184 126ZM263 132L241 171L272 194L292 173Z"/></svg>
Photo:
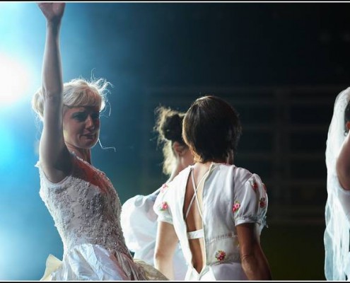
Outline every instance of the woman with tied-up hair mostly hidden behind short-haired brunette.
<svg viewBox="0 0 350 283"><path fill-rule="evenodd" d="M170 176L162 187L187 166L193 163L193 156L182 139L182 120L185 113L160 106L156 108L155 132L158 144L163 146L163 173ZM150 195L136 195L122 205L120 222L127 247L134 258L153 265L157 235L157 214L153 205L161 189ZM180 245L174 253L175 280L185 279L187 264Z"/></svg>

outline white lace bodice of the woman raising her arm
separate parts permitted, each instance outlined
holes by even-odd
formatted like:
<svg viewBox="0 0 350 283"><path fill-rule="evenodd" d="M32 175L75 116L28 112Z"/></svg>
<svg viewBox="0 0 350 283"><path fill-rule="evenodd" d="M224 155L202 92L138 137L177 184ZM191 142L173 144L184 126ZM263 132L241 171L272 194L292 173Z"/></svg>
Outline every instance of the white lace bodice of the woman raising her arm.
<svg viewBox="0 0 350 283"><path fill-rule="evenodd" d="M73 246L92 243L111 253L132 258L120 226L121 204L105 173L72 156L71 175L51 183L40 168L40 197L54 219L64 244L64 254Z"/></svg>

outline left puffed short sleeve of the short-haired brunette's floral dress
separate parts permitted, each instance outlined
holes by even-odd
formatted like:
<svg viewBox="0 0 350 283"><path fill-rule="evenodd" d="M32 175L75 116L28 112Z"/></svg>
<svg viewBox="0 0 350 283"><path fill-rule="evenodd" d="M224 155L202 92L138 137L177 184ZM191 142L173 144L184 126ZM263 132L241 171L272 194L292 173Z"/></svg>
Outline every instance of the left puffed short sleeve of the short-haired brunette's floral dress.
<svg viewBox="0 0 350 283"><path fill-rule="evenodd" d="M156 214L158 214L158 221L173 224L173 216L171 215L169 207L169 190L170 185L167 183L163 184L159 195L156 198L156 202L154 202L153 210L156 212Z"/></svg>

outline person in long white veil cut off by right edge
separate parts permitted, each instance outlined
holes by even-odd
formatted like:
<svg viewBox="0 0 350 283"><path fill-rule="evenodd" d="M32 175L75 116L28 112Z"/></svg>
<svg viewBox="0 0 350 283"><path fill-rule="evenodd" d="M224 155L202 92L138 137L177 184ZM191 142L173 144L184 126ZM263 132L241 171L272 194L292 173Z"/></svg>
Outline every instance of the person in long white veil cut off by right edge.
<svg viewBox="0 0 350 283"><path fill-rule="evenodd" d="M338 94L326 144L325 277L350 279L350 88Z"/></svg>

